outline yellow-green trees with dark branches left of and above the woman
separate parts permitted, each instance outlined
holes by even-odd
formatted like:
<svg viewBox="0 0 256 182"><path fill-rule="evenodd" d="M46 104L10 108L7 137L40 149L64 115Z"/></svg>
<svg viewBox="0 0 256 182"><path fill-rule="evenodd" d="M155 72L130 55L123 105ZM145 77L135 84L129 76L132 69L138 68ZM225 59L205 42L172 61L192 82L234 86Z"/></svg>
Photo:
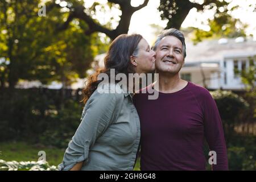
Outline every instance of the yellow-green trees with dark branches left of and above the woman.
<svg viewBox="0 0 256 182"><path fill-rule="evenodd" d="M107 48L108 41L102 42L98 32L111 39L127 33L131 15L148 0L138 7L132 7L130 1L109 0L107 6L122 11L114 29L89 15L98 7L104 11L106 5L94 2L85 9L77 0L68 1L66 6L55 2L46 3L46 16L38 16L40 0L0 2L1 87L13 89L20 79L43 84L57 80L65 86L74 78L85 77L93 56Z"/></svg>

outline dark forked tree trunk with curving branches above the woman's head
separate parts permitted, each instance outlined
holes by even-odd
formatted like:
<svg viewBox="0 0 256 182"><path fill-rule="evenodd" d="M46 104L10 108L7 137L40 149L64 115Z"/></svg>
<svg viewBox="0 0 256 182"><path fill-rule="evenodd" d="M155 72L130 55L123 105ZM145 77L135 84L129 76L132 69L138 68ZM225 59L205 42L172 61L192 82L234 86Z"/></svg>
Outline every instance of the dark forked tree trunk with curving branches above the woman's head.
<svg viewBox="0 0 256 182"><path fill-rule="evenodd" d="M60 24L56 31L63 31L68 28L70 22L73 19L79 19L80 22L83 21L86 23L87 27L85 28L85 34L90 35L93 32L102 32L109 36L110 39L115 39L120 34L127 34L130 26L131 16L135 11L142 9L147 6L149 0L144 0L142 5L138 7L131 6L131 0L108 0L106 5L102 5L98 2L94 2L93 5L86 9L81 1L77 0L69 0L67 1L66 7L69 9L69 15L65 23ZM60 3L55 3L56 1L51 1L47 3L47 11L51 11L54 7L63 8L60 6ZM96 8L100 8L102 10L105 9L104 6L109 6L111 9L113 6L118 5L119 10L122 11L120 16L120 20L118 26L114 29L111 29L108 26L102 26L96 19L93 19L91 14L96 12Z"/></svg>

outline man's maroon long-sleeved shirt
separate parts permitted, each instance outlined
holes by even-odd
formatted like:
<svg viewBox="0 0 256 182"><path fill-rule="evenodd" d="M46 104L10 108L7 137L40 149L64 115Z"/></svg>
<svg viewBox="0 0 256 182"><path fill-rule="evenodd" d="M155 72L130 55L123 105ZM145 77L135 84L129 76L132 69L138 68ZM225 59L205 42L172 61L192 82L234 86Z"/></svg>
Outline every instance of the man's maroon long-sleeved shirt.
<svg viewBox="0 0 256 182"><path fill-rule="evenodd" d="M145 89L152 89L152 85ZM209 91L192 82L175 93L135 94L141 120L141 170L205 170L204 139L216 152L213 170L228 170L220 114Z"/></svg>

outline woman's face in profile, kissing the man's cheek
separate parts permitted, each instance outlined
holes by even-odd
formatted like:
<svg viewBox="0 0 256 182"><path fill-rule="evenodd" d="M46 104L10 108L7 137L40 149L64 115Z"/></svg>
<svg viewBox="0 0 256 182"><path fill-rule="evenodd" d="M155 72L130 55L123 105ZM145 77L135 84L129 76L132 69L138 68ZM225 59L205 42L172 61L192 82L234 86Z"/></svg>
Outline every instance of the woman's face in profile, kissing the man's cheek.
<svg viewBox="0 0 256 182"><path fill-rule="evenodd" d="M133 56L132 63L135 65L136 73L152 73L155 71L155 52L150 49L147 41L141 39L138 44L138 54Z"/></svg>

